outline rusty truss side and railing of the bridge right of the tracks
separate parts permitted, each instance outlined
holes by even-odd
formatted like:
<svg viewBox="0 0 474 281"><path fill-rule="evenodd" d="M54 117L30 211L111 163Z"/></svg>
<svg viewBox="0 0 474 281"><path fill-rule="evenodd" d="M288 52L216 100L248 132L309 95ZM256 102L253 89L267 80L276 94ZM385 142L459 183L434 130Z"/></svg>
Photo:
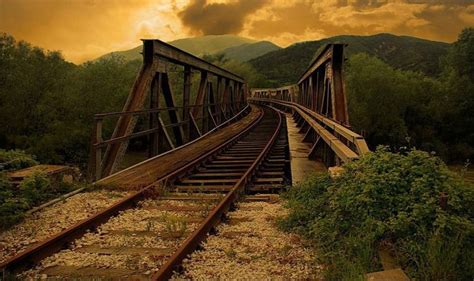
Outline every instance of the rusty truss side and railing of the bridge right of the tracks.
<svg viewBox="0 0 474 281"><path fill-rule="evenodd" d="M312 143L308 157L328 167L369 151L364 138L349 126L343 63L344 45L328 44L296 84L251 90L251 100L291 111L304 141Z"/></svg>

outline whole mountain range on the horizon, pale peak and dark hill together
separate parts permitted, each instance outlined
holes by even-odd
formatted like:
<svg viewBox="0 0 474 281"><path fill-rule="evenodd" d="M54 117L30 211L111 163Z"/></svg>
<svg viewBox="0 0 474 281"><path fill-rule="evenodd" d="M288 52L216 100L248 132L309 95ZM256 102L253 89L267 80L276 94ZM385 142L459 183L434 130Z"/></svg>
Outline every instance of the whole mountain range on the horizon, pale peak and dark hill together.
<svg viewBox="0 0 474 281"><path fill-rule="evenodd" d="M370 36L341 35L321 40L300 42L280 48L269 41L256 41L236 35L207 35L168 42L196 56L224 55L248 62L269 84L278 86L294 83L308 67L318 49L328 43L347 44L346 55L367 53L401 70L421 71L429 76L440 72L439 60L450 44L381 33ZM141 59L141 46L106 54L119 55L126 60Z"/></svg>

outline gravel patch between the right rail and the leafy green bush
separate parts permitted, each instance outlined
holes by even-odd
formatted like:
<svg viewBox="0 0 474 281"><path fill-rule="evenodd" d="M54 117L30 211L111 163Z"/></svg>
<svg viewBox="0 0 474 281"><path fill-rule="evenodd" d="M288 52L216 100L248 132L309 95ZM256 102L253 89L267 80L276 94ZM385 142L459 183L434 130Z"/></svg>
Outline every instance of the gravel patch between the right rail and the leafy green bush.
<svg viewBox="0 0 474 281"><path fill-rule="evenodd" d="M321 280L312 250L275 225L281 203L240 203L175 280Z"/></svg>

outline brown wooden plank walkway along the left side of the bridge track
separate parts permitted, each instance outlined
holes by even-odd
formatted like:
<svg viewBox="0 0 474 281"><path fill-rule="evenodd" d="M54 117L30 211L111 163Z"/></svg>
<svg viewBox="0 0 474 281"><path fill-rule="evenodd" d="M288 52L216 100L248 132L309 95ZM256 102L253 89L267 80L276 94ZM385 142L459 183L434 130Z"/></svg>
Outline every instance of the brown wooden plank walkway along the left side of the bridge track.
<svg viewBox="0 0 474 281"><path fill-rule="evenodd" d="M122 170L118 173L103 178L97 182L101 185L113 185L120 187L143 187L156 181L157 178L182 167L191 162L199 155L211 151L213 148L222 144L232 136L241 132L249 126L253 120L258 118L260 110L252 106L252 111L236 123L221 128L209 135L173 150L164 155L158 155L144 162L138 163L132 167Z"/></svg>

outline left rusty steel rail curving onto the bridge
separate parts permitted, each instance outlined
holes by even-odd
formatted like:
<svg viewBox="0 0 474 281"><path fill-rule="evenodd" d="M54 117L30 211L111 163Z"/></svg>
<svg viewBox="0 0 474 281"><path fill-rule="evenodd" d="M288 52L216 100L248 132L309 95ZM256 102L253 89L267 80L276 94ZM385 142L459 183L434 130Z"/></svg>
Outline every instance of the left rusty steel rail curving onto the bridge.
<svg viewBox="0 0 474 281"><path fill-rule="evenodd" d="M208 151L203 155L197 156L195 159L188 162L186 165L183 165L181 168L174 170L167 175L157 179L152 184L147 185L146 187L142 188L141 190L133 193L132 195L114 203L110 207L105 210L102 210L95 215L86 218L67 229L63 230L62 232L34 245L31 248L28 248L17 255L9 258L5 262L0 264L1 272L16 272L28 266L32 266L42 259L58 252L67 243L74 241L77 238L80 238L88 229L95 228L104 222L106 222L111 216L117 214L119 211L126 210L129 208L134 207L139 201L147 198L153 191L153 189L159 184L160 182L167 181L172 177L175 177L183 172L186 172L190 168L193 168L197 164L201 163L202 161L208 159L210 156L214 155L218 151L222 150L223 148L227 147L229 144L240 139L242 136L250 132L263 118L263 111L259 109L259 116L256 118L252 123L250 123L244 130L230 138L229 140L225 141L224 143L220 144L216 148Z"/></svg>

